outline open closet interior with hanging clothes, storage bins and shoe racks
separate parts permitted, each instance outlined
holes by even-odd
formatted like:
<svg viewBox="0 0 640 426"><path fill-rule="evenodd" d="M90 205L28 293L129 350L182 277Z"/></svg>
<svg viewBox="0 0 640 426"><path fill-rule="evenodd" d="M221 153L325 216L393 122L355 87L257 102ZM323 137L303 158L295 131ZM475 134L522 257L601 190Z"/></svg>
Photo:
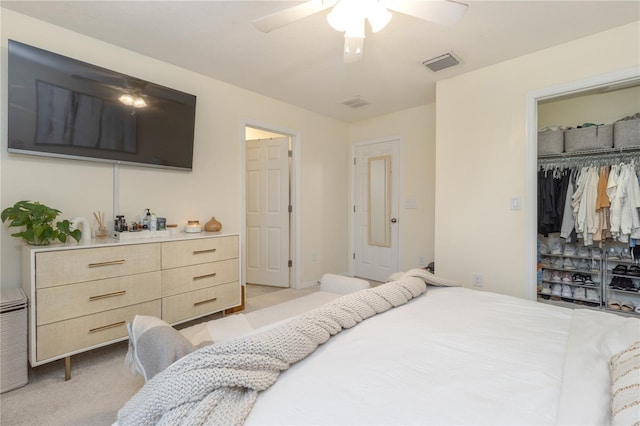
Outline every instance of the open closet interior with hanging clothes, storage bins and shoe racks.
<svg viewBox="0 0 640 426"><path fill-rule="evenodd" d="M537 298L640 316L640 86L538 104Z"/></svg>

